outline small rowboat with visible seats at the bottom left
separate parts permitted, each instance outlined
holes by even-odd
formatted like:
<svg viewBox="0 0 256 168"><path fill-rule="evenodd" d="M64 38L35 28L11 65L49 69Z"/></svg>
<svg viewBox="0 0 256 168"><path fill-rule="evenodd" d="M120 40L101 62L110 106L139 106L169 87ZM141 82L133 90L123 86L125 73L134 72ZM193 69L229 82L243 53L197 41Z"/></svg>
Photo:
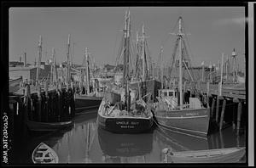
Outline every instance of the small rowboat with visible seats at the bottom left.
<svg viewBox="0 0 256 168"><path fill-rule="evenodd" d="M45 143L40 143L32 153L34 164L55 164L59 162L59 157L52 148Z"/></svg>

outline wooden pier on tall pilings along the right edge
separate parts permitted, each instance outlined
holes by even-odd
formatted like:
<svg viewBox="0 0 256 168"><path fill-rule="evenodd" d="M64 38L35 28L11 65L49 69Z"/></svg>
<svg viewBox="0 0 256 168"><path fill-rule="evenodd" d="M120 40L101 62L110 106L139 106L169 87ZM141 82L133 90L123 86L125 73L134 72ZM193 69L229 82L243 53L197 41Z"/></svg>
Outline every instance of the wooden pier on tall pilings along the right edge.
<svg viewBox="0 0 256 168"><path fill-rule="evenodd" d="M237 135L241 131L241 115L243 112L247 113L246 107L246 88L245 85L235 84L210 84L198 83L197 88L200 88L202 95L207 95L209 102L211 103L211 120L216 123L218 129L221 131L224 128L224 120L227 116L232 116L232 126L236 129ZM227 106L232 106L232 109ZM231 114L225 114L226 111L233 111ZM246 118L246 117L244 117Z"/></svg>

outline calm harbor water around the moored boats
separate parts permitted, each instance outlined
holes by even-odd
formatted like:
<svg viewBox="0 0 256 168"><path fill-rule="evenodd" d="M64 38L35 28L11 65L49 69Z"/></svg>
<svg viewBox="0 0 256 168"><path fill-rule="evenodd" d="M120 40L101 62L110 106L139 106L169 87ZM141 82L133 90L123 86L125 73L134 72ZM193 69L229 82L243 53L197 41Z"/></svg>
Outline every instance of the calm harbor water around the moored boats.
<svg viewBox="0 0 256 168"><path fill-rule="evenodd" d="M74 126L67 130L44 134L28 132L24 143L15 148L13 164L33 164L32 152L39 143L53 148L62 164L163 163L163 148L185 151L246 146L246 132L236 136L232 126L206 138L170 132L160 127L143 134L115 134L97 127L97 109L87 112L76 115ZM245 163L246 156L240 162Z"/></svg>

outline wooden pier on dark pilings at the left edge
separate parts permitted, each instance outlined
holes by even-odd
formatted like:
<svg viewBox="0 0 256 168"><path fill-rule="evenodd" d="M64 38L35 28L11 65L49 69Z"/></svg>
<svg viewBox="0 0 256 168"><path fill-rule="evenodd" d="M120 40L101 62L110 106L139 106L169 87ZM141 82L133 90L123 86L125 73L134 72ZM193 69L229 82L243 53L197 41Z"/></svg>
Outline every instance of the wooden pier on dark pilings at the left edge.
<svg viewBox="0 0 256 168"><path fill-rule="evenodd" d="M47 125L50 127L55 123L55 126L61 126L61 123L73 120L73 94L72 87L48 87L47 82L44 82L44 89L30 89L30 85L26 84L23 89L10 94L9 115L14 116L14 123L19 126L14 132L24 132L26 128L37 131L40 125L44 126L41 130L47 131ZM31 123L34 126L31 127ZM37 128L34 129L35 125Z"/></svg>

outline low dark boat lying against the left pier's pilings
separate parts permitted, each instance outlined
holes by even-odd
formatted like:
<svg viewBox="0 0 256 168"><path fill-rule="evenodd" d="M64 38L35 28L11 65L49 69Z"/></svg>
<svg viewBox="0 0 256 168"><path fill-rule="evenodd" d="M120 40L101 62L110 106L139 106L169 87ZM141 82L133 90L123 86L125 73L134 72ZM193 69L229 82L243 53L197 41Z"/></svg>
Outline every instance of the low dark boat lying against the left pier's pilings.
<svg viewBox="0 0 256 168"><path fill-rule="evenodd" d="M64 122L38 122L26 120L26 126L32 132L54 132L56 130L73 126L73 123L73 120Z"/></svg>

